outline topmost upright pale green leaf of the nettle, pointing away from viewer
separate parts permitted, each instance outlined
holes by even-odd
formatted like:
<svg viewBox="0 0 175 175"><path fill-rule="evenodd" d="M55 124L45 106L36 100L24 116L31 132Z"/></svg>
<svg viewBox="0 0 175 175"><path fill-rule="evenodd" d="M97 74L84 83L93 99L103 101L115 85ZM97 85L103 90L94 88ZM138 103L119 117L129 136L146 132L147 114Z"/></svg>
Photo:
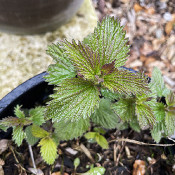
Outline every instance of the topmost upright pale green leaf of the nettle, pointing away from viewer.
<svg viewBox="0 0 175 175"><path fill-rule="evenodd" d="M125 64L129 46L127 45L128 40L125 39L126 32L123 31L123 28L123 26L120 26L119 21L106 17L101 23L98 23L94 33L84 39L84 42L93 51L98 52L101 66L114 60L116 60L115 67Z"/></svg>

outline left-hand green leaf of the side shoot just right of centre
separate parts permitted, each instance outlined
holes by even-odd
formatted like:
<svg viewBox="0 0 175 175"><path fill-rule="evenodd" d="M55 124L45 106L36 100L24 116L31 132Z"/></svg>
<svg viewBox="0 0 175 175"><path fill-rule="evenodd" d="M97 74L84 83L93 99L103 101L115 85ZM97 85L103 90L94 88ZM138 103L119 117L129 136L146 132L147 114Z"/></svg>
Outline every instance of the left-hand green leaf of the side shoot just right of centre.
<svg viewBox="0 0 175 175"><path fill-rule="evenodd" d="M122 98L112 105L112 109L123 121L132 121L135 116L135 99Z"/></svg>

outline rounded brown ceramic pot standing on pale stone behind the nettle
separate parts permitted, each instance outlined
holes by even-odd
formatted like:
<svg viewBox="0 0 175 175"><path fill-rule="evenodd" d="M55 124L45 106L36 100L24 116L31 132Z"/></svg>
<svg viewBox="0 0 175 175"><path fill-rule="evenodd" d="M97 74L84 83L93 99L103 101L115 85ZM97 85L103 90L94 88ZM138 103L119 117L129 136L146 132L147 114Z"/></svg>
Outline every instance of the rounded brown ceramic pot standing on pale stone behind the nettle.
<svg viewBox="0 0 175 175"><path fill-rule="evenodd" d="M0 0L0 30L15 34L52 31L68 21L83 0Z"/></svg>

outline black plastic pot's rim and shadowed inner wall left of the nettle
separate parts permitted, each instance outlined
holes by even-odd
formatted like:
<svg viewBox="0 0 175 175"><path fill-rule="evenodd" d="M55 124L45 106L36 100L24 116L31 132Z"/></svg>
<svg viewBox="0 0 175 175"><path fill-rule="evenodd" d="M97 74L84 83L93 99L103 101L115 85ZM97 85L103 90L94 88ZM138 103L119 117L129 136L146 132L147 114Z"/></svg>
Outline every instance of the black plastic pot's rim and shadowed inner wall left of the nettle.
<svg viewBox="0 0 175 175"><path fill-rule="evenodd" d="M0 119L7 116L14 116L14 107L19 104L23 108L32 108L36 104L43 104L45 99L53 93L53 86L48 85L44 81L43 76L47 75L43 72L19 85L2 100L0 100ZM8 132L0 132L0 139L10 137Z"/></svg>

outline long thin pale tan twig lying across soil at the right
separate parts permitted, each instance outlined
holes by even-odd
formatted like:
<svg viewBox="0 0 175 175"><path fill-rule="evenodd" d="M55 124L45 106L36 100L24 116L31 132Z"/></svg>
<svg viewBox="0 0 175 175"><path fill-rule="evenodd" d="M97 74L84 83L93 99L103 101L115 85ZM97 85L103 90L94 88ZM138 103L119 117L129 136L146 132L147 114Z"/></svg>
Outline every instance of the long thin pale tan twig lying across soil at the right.
<svg viewBox="0 0 175 175"><path fill-rule="evenodd" d="M144 143L144 142L140 142L140 141L137 141L137 140L132 140L132 139L126 139L126 138L121 138L121 139L116 139L116 140L111 140L109 141L109 143L111 142L128 142L128 143L134 143L134 144L137 144L137 145L149 145L149 146L174 146L174 144L151 144L151 143ZM175 142L175 141L174 141Z"/></svg>

